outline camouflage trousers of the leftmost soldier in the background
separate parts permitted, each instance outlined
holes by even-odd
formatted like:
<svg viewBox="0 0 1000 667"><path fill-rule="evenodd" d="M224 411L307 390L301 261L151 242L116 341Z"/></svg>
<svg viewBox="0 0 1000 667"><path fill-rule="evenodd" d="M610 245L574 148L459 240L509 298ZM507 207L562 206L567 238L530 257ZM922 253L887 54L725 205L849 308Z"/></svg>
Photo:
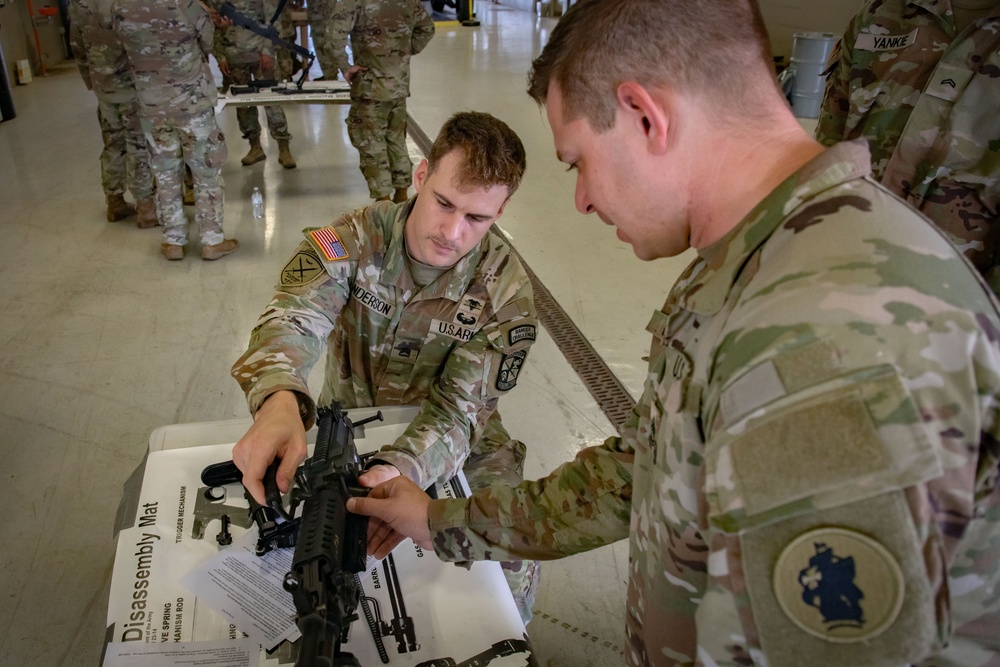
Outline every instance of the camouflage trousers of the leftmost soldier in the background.
<svg viewBox="0 0 1000 667"><path fill-rule="evenodd" d="M153 196L146 137L139 121L139 102L111 102L98 98L97 122L101 125L101 185L104 194L122 195L125 189L136 200Z"/></svg>

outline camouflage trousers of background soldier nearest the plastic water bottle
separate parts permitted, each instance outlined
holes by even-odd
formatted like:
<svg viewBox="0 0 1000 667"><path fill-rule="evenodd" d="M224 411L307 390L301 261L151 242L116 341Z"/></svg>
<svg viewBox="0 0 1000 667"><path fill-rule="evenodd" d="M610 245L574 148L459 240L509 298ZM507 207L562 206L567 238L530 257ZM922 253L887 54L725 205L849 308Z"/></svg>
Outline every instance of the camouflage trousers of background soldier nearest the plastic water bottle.
<svg viewBox="0 0 1000 667"><path fill-rule="evenodd" d="M222 233L222 165L228 152L215 122L215 109L182 116L142 119L156 177L156 212L163 225L163 242L186 245L187 218L181 193L183 165L194 178L194 217L202 245L215 245Z"/></svg>

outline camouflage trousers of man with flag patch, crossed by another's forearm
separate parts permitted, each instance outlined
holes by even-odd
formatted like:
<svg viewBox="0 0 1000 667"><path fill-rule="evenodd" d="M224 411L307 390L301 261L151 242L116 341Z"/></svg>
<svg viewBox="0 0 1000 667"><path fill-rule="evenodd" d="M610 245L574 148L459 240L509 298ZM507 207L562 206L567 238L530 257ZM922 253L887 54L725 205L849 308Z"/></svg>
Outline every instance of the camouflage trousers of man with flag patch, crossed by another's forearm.
<svg viewBox="0 0 1000 667"><path fill-rule="evenodd" d="M462 472L473 492L493 484L517 486L524 480L524 443L514 440L507 433L500 414L494 412L486 421L482 437L472 446ZM510 561L500 563L507 586L514 596L521 620L531 621L531 608L538 590L539 563L537 561Z"/></svg>

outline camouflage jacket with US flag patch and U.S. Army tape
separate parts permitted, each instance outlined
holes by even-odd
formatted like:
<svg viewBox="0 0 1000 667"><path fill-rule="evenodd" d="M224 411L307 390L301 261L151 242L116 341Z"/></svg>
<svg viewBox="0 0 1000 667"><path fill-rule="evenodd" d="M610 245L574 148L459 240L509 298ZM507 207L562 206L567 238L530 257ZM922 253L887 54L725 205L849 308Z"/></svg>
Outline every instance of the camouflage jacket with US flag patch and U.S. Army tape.
<svg viewBox="0 0 1000 667"><path fill-rule="evenodd" d="M421 406L379 458L426 487L461 468L516 384L537 320L527 274L492 231L418 288L403 243L410 205L378 203L306 230L232 373L256 412L282 389L308 396L328 349L321 405Z"/></svg>

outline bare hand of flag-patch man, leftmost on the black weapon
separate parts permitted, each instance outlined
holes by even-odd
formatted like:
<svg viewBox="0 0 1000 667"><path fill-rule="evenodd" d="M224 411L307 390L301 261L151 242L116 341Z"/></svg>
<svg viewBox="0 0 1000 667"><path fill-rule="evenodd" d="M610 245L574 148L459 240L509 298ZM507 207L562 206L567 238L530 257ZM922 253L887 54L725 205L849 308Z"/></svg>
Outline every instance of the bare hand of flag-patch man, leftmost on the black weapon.
<svg viewBox="0 0 1000 667"><path fill-rule="evenodd" d="M260 406L253 426L233 447L233 462L243 472L243 486L258 503L266 505L263 479L267 467L275 458L281 459L278 489L287 493L307 453L306 430L295 394L279 391Z"/></svg>

